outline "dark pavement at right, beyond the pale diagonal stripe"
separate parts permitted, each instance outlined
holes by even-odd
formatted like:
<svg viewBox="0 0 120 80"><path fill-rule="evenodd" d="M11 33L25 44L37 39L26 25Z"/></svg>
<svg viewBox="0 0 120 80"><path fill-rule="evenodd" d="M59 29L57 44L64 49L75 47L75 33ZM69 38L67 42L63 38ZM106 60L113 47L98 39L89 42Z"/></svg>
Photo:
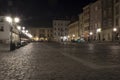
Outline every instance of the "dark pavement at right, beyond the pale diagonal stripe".
<svg viewBox="0 0 120 80"><path fill-rule="evenodd" d="M83 47L84 46L84 47ZM120 65L119 45L79 45L77 48L64 47L64 53L92 62L97 65Z"/></svg>

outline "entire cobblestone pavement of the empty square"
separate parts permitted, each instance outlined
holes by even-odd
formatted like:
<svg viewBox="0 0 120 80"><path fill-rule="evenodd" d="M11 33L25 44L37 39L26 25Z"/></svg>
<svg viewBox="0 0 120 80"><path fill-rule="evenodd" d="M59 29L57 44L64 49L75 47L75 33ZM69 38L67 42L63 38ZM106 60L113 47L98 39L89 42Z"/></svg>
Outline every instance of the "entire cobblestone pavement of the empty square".
<svg viewBox="0 0 120 80"><path fill-rule="evenodd" d="M30 43L0 52L0 80L120 80L120 46Z"/></svg>

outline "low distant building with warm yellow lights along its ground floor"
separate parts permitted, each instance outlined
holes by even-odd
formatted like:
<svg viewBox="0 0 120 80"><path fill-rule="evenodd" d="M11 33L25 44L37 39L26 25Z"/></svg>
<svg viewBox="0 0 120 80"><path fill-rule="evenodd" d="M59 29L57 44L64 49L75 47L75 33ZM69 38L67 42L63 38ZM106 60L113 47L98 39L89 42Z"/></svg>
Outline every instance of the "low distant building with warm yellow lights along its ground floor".
<svg viewBox="0 0 120 80"><path fill-rule="evenodd" d="M53 41L53 28L30 28L34 41Z"/></svg>

